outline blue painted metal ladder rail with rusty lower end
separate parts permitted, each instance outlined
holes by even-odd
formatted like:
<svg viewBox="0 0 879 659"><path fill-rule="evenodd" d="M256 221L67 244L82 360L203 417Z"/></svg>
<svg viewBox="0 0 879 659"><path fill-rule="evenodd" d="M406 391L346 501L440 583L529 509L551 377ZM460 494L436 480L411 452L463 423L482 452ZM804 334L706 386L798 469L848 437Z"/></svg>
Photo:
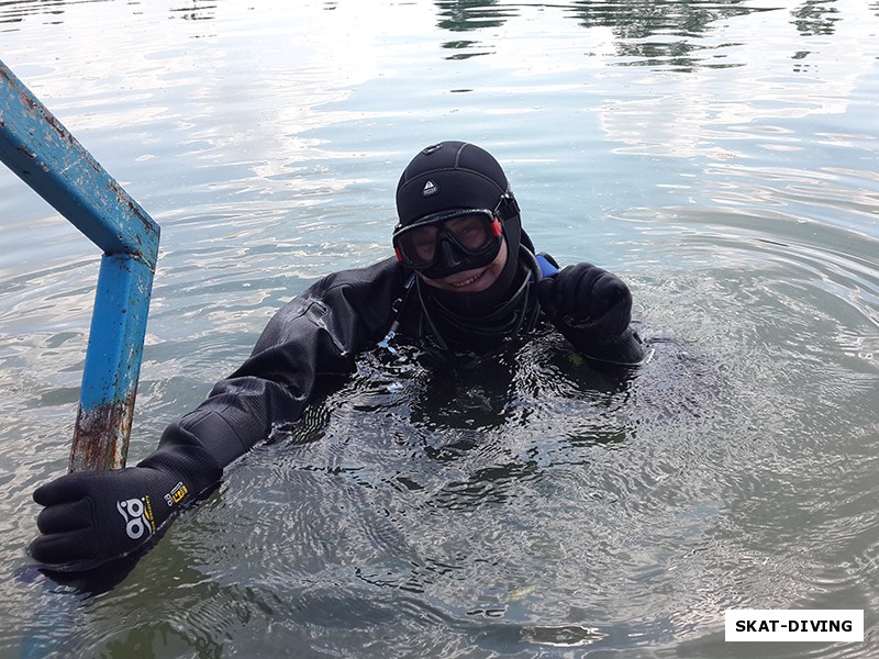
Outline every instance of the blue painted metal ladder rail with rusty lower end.
<svg viewBox="0 0 879 659"><path fill-rule="evenodd" d="M102 252L70 471L127 457L159 227L0 62L0 160Z"/></svg>

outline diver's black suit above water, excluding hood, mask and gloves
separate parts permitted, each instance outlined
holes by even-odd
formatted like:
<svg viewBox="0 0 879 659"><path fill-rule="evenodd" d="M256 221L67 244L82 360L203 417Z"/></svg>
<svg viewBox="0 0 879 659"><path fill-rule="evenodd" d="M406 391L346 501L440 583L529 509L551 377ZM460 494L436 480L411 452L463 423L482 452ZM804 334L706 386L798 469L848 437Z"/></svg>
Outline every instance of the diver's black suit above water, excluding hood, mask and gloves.
<svg viewBox="0 0 879 659"><path fill-rule="evenodd" d="M489 314L491 327L476 333L472 330L485 319L471 317L474 328L461 331L464 319L429 287L419 286L394 258L324 277L277 312L251 357L218 382L197 410L169 425L157 454L141 465L183 449L190 471L203 468L190 477L201 482L219 479L224 467L266 439L274 424L299 418L323 378L351 373L355 356L376 347L392 328L398 339L431 346L434 354L445 348L485 351L504 336L548 321L586 357L623 365L643 357L641 340L628 326L631 295L622 282L628 295L624 325L615 335L597 337L541 309L534 286L539 268L530 249L520 249L524 252L512 284L515 299ZM609 272L596 271L619 282Z"/></svg>

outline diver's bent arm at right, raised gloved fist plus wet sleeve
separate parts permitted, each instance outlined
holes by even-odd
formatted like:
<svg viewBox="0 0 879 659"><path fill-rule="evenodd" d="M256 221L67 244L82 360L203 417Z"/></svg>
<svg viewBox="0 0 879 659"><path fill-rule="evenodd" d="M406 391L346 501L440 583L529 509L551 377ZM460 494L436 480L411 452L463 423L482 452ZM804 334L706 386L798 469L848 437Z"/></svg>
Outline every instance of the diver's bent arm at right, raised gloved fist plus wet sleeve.
<svg viewBox="0 0 879 659"><path fill-rule="evenodd" d="M644 345L631 325L632 292L590 264L568 266L537 284L541 309L578 353L597 361L636 366Z"/></svg>

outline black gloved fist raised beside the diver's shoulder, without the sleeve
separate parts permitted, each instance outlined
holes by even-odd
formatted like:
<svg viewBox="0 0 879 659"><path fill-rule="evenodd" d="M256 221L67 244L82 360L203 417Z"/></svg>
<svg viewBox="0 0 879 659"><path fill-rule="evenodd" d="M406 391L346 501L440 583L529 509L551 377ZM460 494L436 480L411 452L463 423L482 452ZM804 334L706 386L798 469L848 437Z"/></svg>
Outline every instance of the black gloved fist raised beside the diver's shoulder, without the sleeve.
<svg viewBox="0 0 879 659"><path fill-rule="evenodd" d="M537 286L541 306L550 319L609 340L632 320L632 293L615 275L589 264L568 266Z"/></svg>

